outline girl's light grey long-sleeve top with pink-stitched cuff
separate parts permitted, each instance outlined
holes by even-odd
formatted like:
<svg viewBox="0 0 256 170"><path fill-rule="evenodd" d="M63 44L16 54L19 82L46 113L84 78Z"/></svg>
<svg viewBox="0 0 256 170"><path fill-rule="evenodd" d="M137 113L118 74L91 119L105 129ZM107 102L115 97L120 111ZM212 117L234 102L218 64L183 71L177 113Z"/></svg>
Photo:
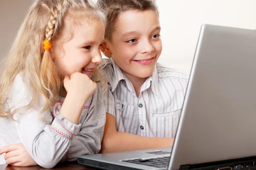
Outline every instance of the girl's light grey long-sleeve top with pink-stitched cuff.
<svg viewBox="0 0 256 170"><path fill-rule="evenodd" d="M15 77L5 105L11 112L32 100L32 92L24 80L23 74ZM79 125L59 113L61 104L61 101L55 104L53 114L43 113L44 119L38 115L42 100L35 108L15 113L17 122L0 118L0 148L23 143L29 155L44 168L54 167L59 161L75 161L78 156L99 153L106 115L100 88L85 102Z"/></svg>

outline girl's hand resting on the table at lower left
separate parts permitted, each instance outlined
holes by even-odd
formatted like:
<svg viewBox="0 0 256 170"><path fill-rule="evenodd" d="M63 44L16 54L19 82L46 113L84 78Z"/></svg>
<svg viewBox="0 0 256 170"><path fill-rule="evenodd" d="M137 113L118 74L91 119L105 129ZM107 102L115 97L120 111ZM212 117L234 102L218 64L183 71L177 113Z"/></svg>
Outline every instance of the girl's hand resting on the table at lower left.
<svg viewBox="0 0 256 170"><path fill-rule="evenodd" d="M6 153L4 159L6 164L12 166L28 167L38 165L34 159L31 158L28 151L22 143L10 144L0 149L0 155Z"/></svg>

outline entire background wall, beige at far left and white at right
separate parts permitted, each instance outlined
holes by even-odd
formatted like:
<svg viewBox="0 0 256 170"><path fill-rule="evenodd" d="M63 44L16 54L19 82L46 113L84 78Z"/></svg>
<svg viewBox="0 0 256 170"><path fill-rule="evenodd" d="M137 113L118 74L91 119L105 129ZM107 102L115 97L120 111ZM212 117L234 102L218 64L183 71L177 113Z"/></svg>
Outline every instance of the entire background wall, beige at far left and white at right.
<svg viewBox="0 0 256 170"><path fill-rule="evenodd" d="M96 0L93 0L96 1ZM256 0L156 0L163 52L158 60L189 73L204 23L256 29ZM0 59L12 44L32 0L0 0Z"/></svg>

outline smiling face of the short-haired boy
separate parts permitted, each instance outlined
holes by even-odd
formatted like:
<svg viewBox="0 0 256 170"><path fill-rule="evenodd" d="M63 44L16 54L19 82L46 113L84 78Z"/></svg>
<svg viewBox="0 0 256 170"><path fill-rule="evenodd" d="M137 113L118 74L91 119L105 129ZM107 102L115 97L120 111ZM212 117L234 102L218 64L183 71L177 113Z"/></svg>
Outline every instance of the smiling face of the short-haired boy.
<svg viewBox="0 0 256 170"><path fill-rule="evenodd" d="M111 40L105 42L109 54L129 79L149 77L162 52L157 12L122 12Z"/></svg>

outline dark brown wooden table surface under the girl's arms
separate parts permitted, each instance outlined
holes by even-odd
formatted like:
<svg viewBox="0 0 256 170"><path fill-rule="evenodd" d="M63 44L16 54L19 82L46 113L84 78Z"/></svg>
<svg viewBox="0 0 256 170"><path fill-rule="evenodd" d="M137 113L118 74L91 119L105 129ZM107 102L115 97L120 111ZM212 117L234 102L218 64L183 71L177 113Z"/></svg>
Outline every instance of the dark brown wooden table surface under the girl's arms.
<svg viewBox="0 0 256 170"><path fill-rule="evenodd" d="M32 167L14 167L7 164L0 165L0 170L95 170L84 165L79 164L78 162L65 162L59 163L52 169L45 169L40 166Z"/></svg>

